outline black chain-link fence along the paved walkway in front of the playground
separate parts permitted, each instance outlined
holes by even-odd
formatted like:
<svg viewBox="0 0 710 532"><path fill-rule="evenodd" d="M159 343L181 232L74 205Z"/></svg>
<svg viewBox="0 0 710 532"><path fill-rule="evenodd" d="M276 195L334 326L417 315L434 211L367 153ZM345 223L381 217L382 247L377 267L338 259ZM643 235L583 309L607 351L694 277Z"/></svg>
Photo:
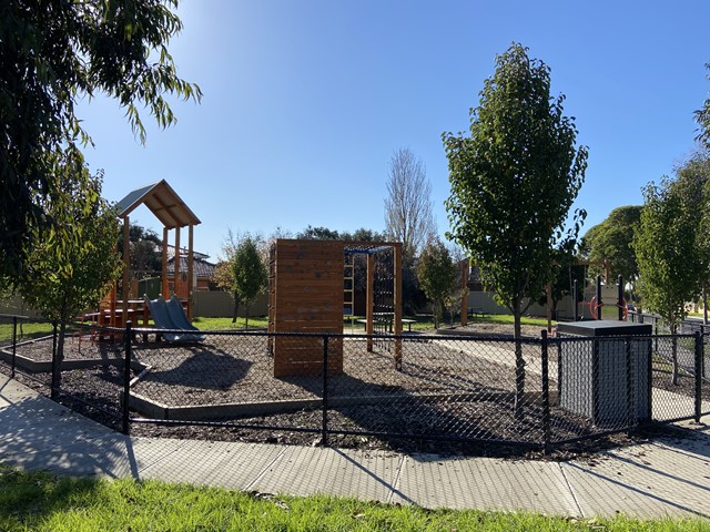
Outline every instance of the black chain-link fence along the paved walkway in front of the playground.
<svg viewBox="0 0 710 532"><path fill-rule="evenodd" d="M349 434L550 448L710 413L700 334L516 342L415 334L185 336L72 324L54 371L61 327L53 330L0 318L2 371L14 368L17 378L118 430L222 426L313 432L321 441Z"/></svg>

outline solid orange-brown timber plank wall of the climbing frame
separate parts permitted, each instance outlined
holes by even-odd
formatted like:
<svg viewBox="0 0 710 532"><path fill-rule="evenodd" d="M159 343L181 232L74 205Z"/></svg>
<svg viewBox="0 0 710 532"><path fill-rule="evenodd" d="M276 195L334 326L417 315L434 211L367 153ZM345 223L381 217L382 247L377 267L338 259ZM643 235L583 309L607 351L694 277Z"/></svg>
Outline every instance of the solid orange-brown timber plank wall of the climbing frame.
<svg viewBox="0 0 710 532"><path fill-rule="evenodd" d="M343 332L343 242L277 239L271 249L270 332ZM323 337L270 339L274 377L323 374ZM328 368L343 372L343 339L328 338Z"/></svg>

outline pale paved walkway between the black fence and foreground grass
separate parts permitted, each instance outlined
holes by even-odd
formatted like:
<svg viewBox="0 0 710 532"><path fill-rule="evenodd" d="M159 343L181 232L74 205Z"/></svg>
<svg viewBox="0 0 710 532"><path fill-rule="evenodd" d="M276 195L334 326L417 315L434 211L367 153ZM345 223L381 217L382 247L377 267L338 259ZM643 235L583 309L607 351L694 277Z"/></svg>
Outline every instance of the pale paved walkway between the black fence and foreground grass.
<svg viewBox="0 0 710 532"><path fill-rule="evenodd" d="M710 519L710 427L687 427L687 437L564 463L135 438L0 375L0 461L8 466L426 508Z"/></svg>

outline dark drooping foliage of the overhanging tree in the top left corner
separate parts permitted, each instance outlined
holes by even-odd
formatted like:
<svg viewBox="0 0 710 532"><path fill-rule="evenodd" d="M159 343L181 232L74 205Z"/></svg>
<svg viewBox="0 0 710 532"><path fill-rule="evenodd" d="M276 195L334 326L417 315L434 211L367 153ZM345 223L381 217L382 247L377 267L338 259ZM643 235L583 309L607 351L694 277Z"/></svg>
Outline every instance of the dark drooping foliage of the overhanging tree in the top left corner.
<svg viewBox="0 0 710 532"><path fill-rule="evenodd" d="M168 52L182 28L176 7L176 0L0 3L0 272L9 282L27 277L36 229L53 231L43 207L61 187L60 165L83 164L80 146L91 140L75 114L79 99L116 100L142 143L139 109L165 127L175 116L164 93L201 99L196 85L178 78Z"/></svg>

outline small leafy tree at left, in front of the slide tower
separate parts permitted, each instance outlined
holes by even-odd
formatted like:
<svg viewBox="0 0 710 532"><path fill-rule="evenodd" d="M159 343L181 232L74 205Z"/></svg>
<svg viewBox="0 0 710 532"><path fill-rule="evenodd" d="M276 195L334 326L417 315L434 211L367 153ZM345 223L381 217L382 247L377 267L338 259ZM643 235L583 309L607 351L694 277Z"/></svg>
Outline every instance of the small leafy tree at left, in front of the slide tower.
<svg viewBox="0 0 710 532"><path fill-rule="evenodd" d="M98 306L122 266L115 249L116 213L101 197L101 174L91 176L83 165L68 164L61 170L60 188L42 204L53 221L52 229L34 229L34 245L26 263L31 280L20 287L28 304L60 324L54 386L61 378L67 323Z"/></svg>

